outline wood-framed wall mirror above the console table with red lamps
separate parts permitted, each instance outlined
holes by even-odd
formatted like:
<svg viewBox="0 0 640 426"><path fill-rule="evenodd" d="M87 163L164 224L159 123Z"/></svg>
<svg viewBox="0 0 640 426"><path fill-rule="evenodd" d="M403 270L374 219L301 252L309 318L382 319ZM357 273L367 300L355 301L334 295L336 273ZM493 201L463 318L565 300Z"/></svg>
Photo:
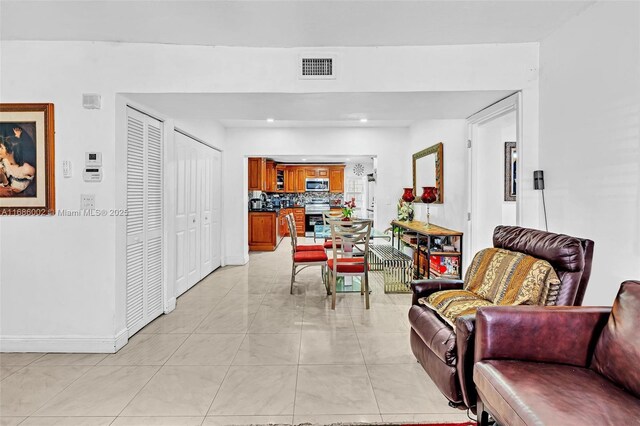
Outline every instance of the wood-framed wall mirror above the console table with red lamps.
<svg viewBox="0 0 640 426"><path fill-rule="evenodd" d="M435 186L438 188L436 204L444 201L442 142L413 154L413 194L415 202L421 203L420 195L423 186Z"/></svg>

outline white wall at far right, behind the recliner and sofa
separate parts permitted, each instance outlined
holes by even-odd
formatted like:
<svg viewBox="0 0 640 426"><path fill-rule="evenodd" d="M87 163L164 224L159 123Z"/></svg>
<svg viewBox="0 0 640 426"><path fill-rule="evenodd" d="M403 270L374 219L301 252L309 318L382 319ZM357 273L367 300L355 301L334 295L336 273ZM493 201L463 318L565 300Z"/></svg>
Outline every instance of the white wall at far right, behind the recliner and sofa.
<svg viewBox="0 0 640 426"><path fill-rule="evenodd" d="M549 230L595 241L589 305L640 279L639 20L637 2L600 2L540 45Z"/></svg>

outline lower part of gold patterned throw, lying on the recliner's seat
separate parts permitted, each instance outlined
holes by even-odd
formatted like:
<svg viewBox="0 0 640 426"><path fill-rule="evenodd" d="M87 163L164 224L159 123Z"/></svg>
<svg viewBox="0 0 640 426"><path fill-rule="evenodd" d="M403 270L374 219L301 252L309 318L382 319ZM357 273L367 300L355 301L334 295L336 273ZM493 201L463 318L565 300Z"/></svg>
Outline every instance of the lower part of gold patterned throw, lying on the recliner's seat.
<svg viewBox="0 0 640 426"><path fill-rule="evenodd" d="M442 290L421 297L418 303L435 311L455 331L456 318L461 315L475 314L481 306L493 306L488 300L466 290Z"/></svg>

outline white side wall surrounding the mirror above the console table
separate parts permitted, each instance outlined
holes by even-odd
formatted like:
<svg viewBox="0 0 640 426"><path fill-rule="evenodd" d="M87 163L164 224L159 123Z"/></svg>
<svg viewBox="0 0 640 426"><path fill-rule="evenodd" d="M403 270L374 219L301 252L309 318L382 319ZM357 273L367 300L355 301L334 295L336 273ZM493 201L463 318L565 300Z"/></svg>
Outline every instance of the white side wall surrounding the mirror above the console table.
<svg viewBox="0 0 640 426"><path fill-rule="evenodd" d="M411 126L409 153L403 162L403 187L413 185L412 155L418 151L443 144L444 203L429 207L431 222L445 228L465 232L467 222L467 122L466 120L425 120ZM420 196L422 188L417 188ZM398 194L397 198L400 198ZM427 220L427 208L415 203L415 219Z"/></svg>

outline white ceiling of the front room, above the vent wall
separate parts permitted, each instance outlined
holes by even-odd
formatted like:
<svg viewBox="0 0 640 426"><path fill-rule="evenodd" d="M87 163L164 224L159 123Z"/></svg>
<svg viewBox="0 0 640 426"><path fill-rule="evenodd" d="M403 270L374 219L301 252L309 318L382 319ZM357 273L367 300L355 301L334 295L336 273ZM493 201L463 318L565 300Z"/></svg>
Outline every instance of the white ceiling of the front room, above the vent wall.
<svg viewBox="0 0 640 426"><path fill-rule="evenodd" d="M2 0L3 40L255 47L539 41L588 1Z"/></svg>

